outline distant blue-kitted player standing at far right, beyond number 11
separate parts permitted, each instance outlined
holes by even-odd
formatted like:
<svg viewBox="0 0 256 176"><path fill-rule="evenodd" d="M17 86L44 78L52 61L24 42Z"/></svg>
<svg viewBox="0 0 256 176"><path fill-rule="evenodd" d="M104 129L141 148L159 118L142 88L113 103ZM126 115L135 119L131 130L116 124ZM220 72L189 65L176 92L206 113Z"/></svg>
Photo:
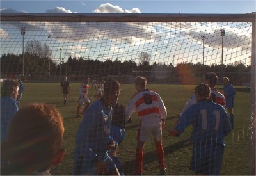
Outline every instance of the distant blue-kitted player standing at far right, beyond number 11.
<svg viewBox="0 0 256 176"><path fill-rule="evenodd" d="M232 129L234 128L234 100L236 97L236 91L232 84L229 83L228 77L223 77L223 92L226 100L226 108L228 108L229 116L230 116L230 124Z"/></svg>

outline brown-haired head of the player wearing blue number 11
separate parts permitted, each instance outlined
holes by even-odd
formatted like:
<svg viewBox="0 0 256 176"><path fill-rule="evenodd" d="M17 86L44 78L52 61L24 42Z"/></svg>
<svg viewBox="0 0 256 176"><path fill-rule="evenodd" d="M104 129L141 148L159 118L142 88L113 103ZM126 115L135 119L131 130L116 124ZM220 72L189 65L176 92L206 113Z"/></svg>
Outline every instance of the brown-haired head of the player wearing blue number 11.
<svg viewBox="0 0 256 176"><path fill-rule="evenodd" d="M210 97L211 89L207 84L199 84L195 87L196 101L207 100Z"/></svg>

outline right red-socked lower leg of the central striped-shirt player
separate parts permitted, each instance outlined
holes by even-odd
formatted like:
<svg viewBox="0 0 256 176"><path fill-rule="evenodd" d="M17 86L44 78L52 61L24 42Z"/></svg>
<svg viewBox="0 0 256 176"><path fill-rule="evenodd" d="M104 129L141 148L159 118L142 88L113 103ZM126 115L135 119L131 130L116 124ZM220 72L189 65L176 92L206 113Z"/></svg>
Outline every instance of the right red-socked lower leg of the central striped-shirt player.
<svg viewBox="0 0 256 176"><path fill-rule="evenodd" d="M154 141L155 141L156 152L157 152L157 157L159 161L160 175L166 175L167 170L164 165L164 148L162 145L162 141L161 140L157 141L156 139L154 139Z"/></svg>

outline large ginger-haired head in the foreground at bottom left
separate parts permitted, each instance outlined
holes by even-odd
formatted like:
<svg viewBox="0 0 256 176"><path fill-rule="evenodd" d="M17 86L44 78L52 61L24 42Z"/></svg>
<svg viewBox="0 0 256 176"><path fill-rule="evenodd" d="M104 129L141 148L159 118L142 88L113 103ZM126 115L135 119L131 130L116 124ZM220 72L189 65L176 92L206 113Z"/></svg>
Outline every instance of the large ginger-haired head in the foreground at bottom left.
<svg viewBox="0 0 256 176"><path fill-rule="evenodd" d="M49 170L63 159L63 133L62 117L54 106L24 106L10 124L5 157L17 173L28 175L35 170Z"/></svg>

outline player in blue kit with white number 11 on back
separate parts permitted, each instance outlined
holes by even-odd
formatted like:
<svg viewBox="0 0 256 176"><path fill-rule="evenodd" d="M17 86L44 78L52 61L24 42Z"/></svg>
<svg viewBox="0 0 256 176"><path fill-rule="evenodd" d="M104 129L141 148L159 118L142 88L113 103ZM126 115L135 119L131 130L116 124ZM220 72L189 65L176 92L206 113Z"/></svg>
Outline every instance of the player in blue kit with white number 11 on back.
<svg viewBox="0 0 256 176"><path fill-rule="evenodd" d="M196 175L219 175L223 158L223 140L231 131L228 115L220 104L209 99L210 87L199 84L195 88L196 104L189 106L170 135L179 136L193 125L191 170Z"/></svg>

